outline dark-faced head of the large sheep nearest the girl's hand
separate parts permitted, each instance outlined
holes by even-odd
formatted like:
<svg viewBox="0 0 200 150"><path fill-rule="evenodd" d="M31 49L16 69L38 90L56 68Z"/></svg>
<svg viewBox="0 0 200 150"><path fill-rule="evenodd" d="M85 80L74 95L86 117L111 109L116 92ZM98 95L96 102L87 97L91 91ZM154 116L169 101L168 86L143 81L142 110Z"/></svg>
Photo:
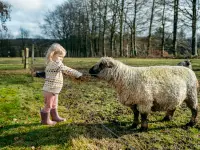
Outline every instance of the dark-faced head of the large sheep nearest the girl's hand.
<svg viewBox="0 0 200 150"><path fill-rule="evenodd" d="M101 74L113 67L113 63L110 61L105 61L102 59L100 62L95 64L92 68L90 68L89 73L94 77L101 77Z"/></svg>

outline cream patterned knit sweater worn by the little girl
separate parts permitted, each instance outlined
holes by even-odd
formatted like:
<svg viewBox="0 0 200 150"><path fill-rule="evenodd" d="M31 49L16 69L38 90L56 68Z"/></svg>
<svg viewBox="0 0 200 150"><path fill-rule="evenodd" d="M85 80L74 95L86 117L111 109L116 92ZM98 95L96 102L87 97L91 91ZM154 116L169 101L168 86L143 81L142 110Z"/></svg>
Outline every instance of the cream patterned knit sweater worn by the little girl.
<svg viewBox="0 0 200 150"><path fill-rule="evenodd" d="M46 78L43 91L54 94L60 93L63 87L63 71L75 78L82 76L82 73L65 66L61 61L50 61L45 69Z"/></svg>

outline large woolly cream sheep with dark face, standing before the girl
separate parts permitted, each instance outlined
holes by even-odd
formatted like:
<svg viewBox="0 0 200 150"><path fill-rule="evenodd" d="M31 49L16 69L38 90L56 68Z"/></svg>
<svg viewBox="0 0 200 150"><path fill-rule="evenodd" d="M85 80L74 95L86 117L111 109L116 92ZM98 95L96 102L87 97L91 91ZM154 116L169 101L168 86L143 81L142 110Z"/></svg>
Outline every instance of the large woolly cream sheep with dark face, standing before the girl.
<svg viewBox="0 0 200 150"><path fill-rule="evenodd" d="M192 112L185 127L192 127L197 122L197 78L191 69L182 66L131 67L111 57L102 57L90 68L89 74L112 85L118 100L132 109L132 128L139 125L140 114L140 130L147 131L147 117L151 111L166 111L163 121L170 121L183 102Z"/></svg>

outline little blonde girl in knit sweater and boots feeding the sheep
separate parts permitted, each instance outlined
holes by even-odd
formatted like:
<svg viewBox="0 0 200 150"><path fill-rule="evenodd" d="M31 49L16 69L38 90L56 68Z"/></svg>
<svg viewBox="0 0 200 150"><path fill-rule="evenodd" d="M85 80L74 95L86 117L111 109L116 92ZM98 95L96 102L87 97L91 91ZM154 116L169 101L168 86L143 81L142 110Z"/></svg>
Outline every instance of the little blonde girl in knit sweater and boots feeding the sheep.
<svg viewBox="0 0 200 150"><path fill-rule="evenodd" d="M57 122L65 121L58 115L58 94L63 86L63 72L80 78L82 73L65 66L62 61L66 55L65 49L57 43L50 46L47 51L46 59L47 66L45 69L45 83L43 86L44 92L44 108L40 111L41 123L45 125L54 125ZM50 119L50 116L52 120Z"/></svg>

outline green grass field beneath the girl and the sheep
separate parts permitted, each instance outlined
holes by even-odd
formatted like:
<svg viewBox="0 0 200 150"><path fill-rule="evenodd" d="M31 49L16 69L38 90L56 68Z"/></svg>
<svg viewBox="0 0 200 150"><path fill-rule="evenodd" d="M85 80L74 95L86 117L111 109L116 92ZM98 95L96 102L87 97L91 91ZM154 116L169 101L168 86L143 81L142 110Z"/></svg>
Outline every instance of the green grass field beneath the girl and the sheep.
<svg viewBox="0 0 200 150"><path fill-rule="evenodd" d="M132 66L176 65L179 59L119 59ZM82 72L98 58L65 58L64 63ZM36 58L44 65L42 58ZM200 80L200 60L192 60ZM182 125L191 117L182 105L173 121L161 122L164 112L149 115L148 132L130 129L132 111L122 106L115 91L105 82L90 79L75 82L65 77L59 95L59 112L66 122L40 124L44 79L23 70L20 58L0 58L0 149L2 150L200 150L200 114L195 127ZM142 94L142 93L141 93ZM111 134L103 126L116 135Z"/></svg>

